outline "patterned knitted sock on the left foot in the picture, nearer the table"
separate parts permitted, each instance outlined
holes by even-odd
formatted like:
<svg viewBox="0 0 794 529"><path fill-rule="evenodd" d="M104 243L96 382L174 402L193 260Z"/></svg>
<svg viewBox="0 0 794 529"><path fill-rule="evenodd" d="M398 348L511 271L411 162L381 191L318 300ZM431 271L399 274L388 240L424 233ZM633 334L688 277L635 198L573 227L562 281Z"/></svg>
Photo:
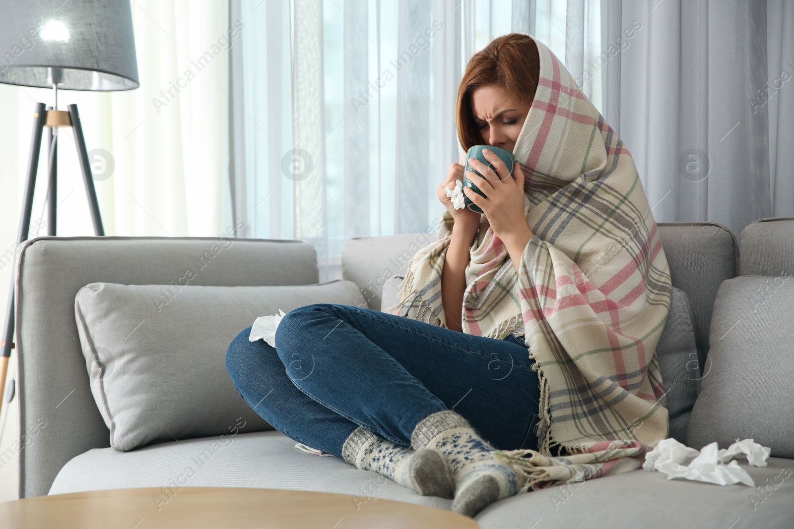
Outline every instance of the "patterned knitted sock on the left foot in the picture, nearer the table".
<svg viewBox="0 0 794 529"><path fill-rule="evenodd" d="M452 499L455 481L444 456L436 450L411 450L358 427L342 446L345 462L372 470L422 496Z"/></svg>

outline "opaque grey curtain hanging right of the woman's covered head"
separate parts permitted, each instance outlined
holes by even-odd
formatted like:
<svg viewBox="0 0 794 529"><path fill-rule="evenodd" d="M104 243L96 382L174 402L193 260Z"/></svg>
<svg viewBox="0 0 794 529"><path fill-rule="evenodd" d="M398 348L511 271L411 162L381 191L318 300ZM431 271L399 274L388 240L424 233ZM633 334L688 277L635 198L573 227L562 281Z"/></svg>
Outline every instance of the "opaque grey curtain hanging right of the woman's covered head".
<svg viewBox="0 0 794 529"><path fill-rule="evenodd" d="M778 145L792 140L792 122L778 116L794 89L769 104L759 96L781 67L794 71L784 64L794 30L785 3L602 2L603 115L634 156L657 221L707 220L738 237L753 220L792 214L792 173L770 160L791 167Z"/></svg>

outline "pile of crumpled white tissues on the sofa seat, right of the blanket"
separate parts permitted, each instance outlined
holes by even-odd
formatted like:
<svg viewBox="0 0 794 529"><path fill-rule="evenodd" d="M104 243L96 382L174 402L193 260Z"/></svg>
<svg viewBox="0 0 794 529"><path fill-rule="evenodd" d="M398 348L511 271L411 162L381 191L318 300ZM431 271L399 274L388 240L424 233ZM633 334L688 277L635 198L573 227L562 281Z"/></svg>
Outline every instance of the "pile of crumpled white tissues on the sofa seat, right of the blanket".
<svg viewBox="0 0 794 529"><path fill-rule="evenodd" d="M766 466L766 459L772 450L754 443L753 439L737 439L727 449L718 450L717 447L717 443L711 443L699 451L673 438L662 439L656 448L646 454L642 468L667 474L667 479L683 477L716 485L743 483L755 487L750 474L731 459L744 454L751 466Z"/></svg>

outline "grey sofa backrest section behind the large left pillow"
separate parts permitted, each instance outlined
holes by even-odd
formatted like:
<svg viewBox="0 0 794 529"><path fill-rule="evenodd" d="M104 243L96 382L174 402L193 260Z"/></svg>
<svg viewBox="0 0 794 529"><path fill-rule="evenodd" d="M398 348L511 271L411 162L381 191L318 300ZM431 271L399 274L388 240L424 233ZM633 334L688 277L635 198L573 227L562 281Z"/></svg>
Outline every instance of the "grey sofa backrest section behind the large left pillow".
<svg viewBox="0 0 794 529"><path fill-rule="evenodd" d="M317 254L295 240L225 237L40 237L25 243L15 289L19 443L25 447L20 497L47 494L75 455L110 447L75 324L77 291L91 282L184 285L188 277L191 285L308 285L318 282Z"/></svg>

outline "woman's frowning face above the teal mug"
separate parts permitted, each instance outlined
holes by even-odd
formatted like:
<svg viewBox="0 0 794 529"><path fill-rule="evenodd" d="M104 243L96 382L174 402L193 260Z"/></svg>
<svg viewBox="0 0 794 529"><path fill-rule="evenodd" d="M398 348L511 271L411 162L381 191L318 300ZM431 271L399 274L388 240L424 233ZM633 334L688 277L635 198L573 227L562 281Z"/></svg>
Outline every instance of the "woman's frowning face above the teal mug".
<svg viewBox="0 0 794 529"><path fill-rule="evenodd" d="M512 152L529 112L530 103L517 102L499 86L479 86L472 91L472 113L483 144Z"/></svg>

